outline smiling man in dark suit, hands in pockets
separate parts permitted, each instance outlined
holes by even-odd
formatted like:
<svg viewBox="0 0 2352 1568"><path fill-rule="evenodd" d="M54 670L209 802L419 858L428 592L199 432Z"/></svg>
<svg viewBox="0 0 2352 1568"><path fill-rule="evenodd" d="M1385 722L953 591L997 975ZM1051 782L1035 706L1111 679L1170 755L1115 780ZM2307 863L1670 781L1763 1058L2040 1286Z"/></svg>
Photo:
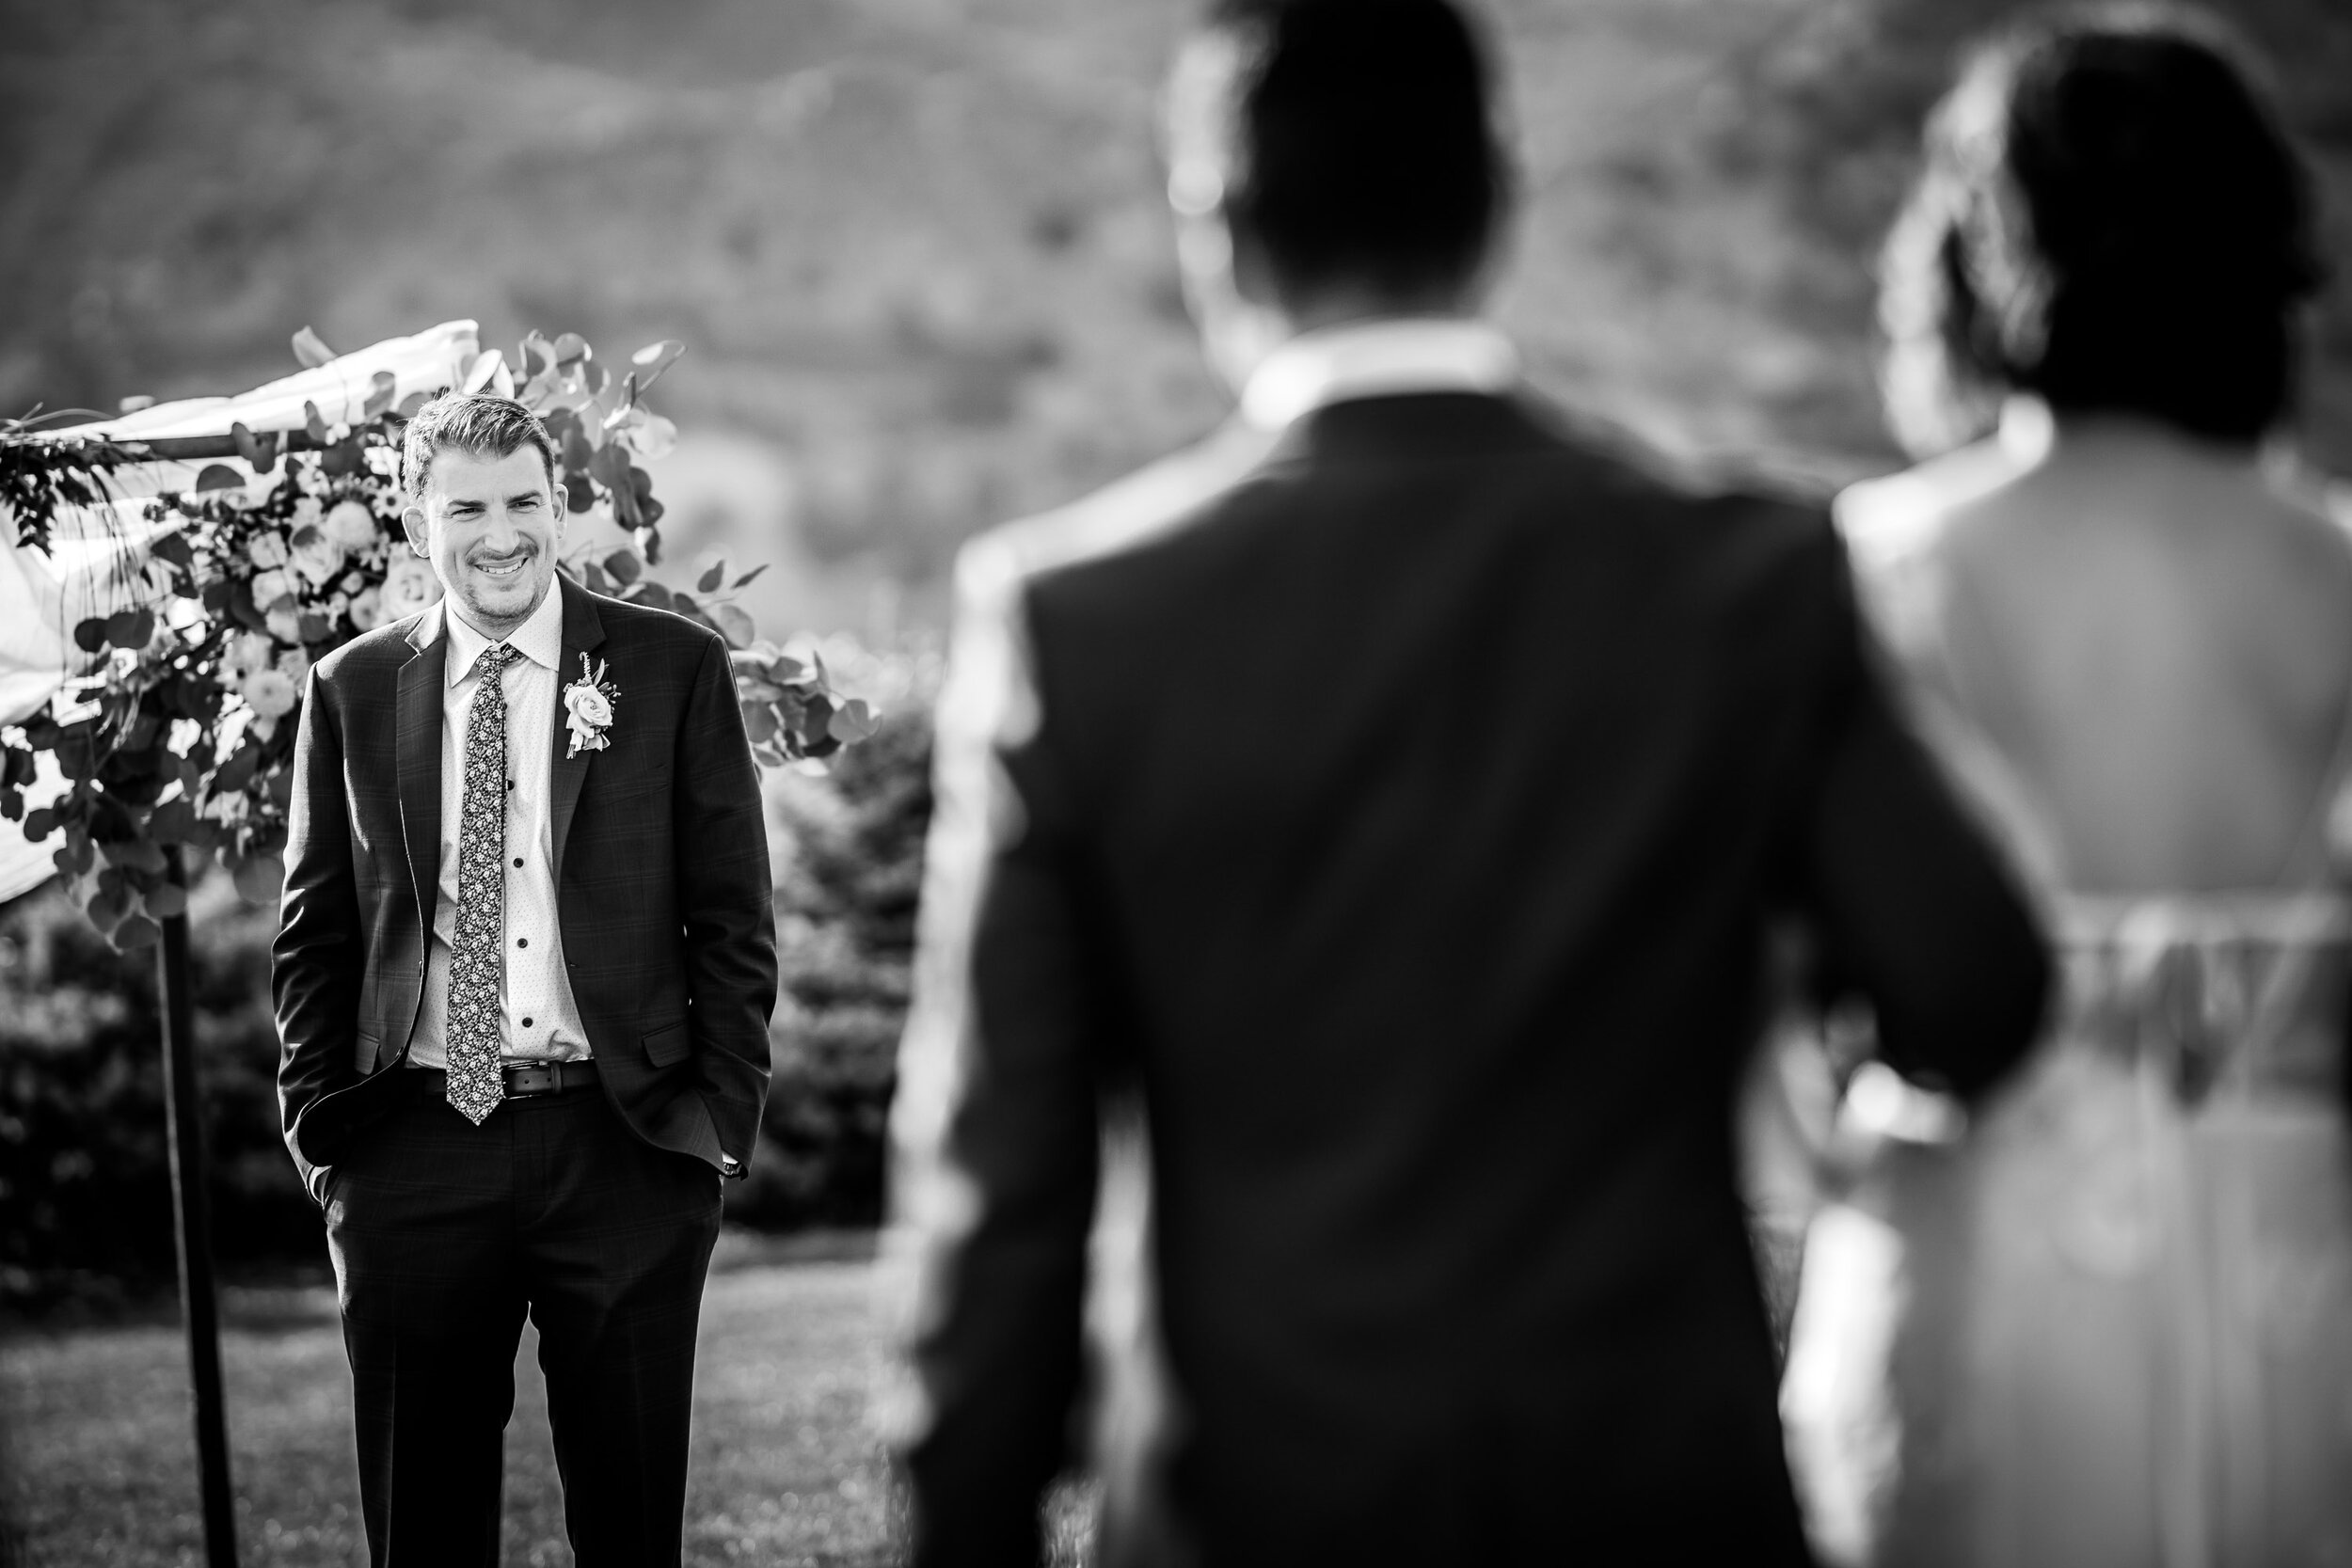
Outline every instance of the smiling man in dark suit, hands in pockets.
<svg viewBox="0 0 2352 1568"><path fill-rule="evenodd" d="M776 938L724 644L555 571L546 428L445 395L405 527L447 590L310 672L275 945L374 1563L496 1563L524 1312L579 1563L677 1563L720 1180Z"/></svg>

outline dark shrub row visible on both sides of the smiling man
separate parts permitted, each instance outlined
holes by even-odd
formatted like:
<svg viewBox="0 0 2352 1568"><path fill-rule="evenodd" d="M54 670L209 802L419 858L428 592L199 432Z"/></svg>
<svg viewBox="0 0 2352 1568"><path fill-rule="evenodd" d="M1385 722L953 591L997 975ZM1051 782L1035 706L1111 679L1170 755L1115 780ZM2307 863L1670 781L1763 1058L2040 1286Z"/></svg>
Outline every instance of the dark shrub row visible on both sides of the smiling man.
<svg viewBox="0 0 2352 1568"><path fill-rule="evenodd" d="M788 846L776 912L774 1084L731 1220L873 1225L915 947L931 733L920 701L821 778L771 795ZM226 877L191 900L198 1084L223 1265L325 1260L278 1133L278 912ZM118 954L49 884L0 905L0 1307L120 1298L172 1279L172 1187L153 954Z"/></svg>

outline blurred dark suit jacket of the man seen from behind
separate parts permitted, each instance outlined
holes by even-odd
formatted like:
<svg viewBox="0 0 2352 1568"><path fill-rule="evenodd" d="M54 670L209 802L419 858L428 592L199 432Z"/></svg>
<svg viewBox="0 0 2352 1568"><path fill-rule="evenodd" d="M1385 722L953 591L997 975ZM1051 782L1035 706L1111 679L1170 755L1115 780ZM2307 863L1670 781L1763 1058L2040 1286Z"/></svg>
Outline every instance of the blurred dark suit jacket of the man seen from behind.
<svg viewBox="0 0 2352 1568"><path fill-rule="evenodd" d="M1120 1084L1204 1561L1802 1561L1731 1140L1769 922L1962 1093L2046 985L1828 520L1376 397L962 588L896 1110L917 1561L1030 1561Z"/></svg>

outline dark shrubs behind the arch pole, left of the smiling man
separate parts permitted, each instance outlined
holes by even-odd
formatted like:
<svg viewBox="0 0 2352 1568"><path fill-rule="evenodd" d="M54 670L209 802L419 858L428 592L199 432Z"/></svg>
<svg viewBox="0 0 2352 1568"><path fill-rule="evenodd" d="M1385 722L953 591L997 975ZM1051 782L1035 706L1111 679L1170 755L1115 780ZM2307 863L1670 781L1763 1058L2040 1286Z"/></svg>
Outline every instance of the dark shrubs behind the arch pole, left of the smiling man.
<svg viewBox="0 0 2352 1568"><path fill-rule="evenodd" d="M221 1260L322 1255L278 1135L275 912L195 889L195 1056ZM122 957L64 889L0 905L0 1302L172 1279L155 966Z"/></svg>

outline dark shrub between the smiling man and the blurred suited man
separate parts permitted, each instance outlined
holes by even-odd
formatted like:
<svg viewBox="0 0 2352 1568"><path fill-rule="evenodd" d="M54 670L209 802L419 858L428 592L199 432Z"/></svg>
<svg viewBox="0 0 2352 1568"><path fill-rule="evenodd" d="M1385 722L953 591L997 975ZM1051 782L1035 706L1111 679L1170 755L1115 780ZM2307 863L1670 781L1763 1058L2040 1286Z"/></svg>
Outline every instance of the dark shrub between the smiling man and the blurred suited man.
<svg viewBox="0 0 2352 1568"><path fill-rule="evenodd" d="M884 1124L915 954L931 726L891 715L826 778L783 795L793 856L776 886L783 1006L750 1178L729 1218L788 1227L882 1215Z"/></svg>

